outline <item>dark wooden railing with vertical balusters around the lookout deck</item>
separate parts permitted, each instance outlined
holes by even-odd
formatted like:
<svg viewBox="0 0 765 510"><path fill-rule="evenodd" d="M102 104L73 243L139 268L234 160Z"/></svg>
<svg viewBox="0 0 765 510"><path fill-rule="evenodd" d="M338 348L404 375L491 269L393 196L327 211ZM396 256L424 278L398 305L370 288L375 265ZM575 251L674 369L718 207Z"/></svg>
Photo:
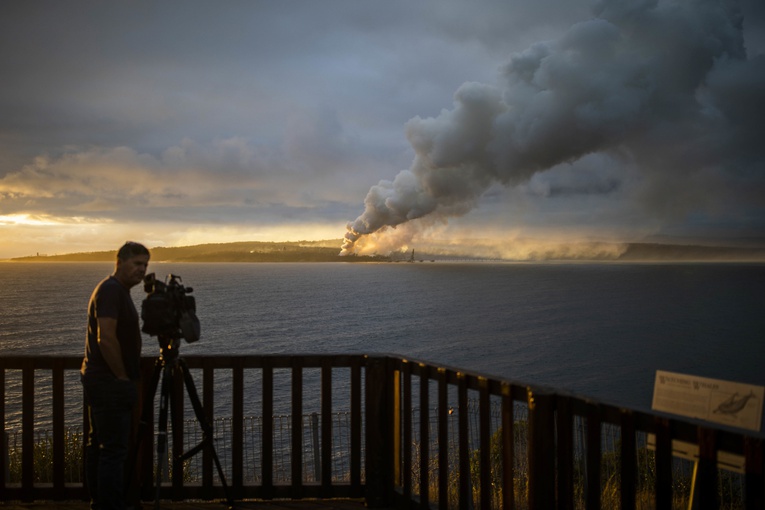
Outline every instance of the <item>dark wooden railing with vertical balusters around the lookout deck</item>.
<svg viewBox="0 0 765 510"><path fill-rule="evenodd" d="M230 496L236 500L364 498L370 507L488 510L619 505L630 510L648 497L651 508L669 509L678 496L673 494L677 490L673 444L684 441L698 447L693 490L697 508L718 508L720 504L720 452L742 459L741 508L765 508L763 440L757 435L393 355L183 359L197 380L207 419L212 421L220 414L231 417L225 478ZM78 357L0 358L0 422L6 425L11 415L20 413L22 438L18 481L9 481L9 446L7 441L0 442L0 459L4 459L0 462L0 500L86 497L83 482L69 483L63 475L65 421L71 415L67 410L77 408L82 399L76 377L80 361ZM143 380L151 380L154 361L143 360ZM14 381L13 388L7 381ZM176 377L172 390L176 416L184 415L186 401L180 381ZM469 408L476 402L477 411L471 412ZM245 461L244 452L251 445L243 423L245 407L252 405L263 417L274 416L286 406L292 417L289 443L298 447L289 447L287 483L274 479L275 448L280 445L274 443L273 420L262 420L256 446L258 465ZM337 437L331 420L338 410L350 415L344 445L349 463L343 473L333 472ZM320 420L320 459L313 479L306 476L303 462L307 431L302 417L306 411L316 412ZM84 423L84 416L76 419ZM148 419L154 423L156 416ZM52 424L53 479L45 483L36 481L39 467L35 466L39 455L35 453L35 428L41 420ZM618 433L616 451L604 451L606 427ZM179 460L184 427L172 427L170 442L172 477L161 484L160 497L223 499L226 494L210 450L200 454L199 479L189 481ZM148 434L141 442L135 484L145 500L156 494L154 449L153 434ZM650 469L639 467L638 458L645 455L650 456ZM606 464L608 469L614 465L607 456L618 459L611 480L603 476ZM251 476L253 470L259 476ZM651 471L650 476L642 471ZM606 485L616 493L617 502L606 499Z"/></svg>

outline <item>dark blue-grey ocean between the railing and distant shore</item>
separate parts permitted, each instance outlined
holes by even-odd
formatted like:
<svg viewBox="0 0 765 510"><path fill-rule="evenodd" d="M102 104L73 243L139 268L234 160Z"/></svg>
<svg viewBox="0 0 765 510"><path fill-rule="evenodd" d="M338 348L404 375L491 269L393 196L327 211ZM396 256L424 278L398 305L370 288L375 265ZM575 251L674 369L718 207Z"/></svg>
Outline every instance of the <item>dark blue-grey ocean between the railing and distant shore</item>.
<svg viewBox="0 0 765 510"><path fill-rule="evenodd" d="M88 298L112 268L1 263L0 353L82 355ZM656 370L765 385L762 264L153 262L149 272L194 289L202 337L182 355L393 353L643 410ZM140 310L142 286L132 295Z"/></svg>

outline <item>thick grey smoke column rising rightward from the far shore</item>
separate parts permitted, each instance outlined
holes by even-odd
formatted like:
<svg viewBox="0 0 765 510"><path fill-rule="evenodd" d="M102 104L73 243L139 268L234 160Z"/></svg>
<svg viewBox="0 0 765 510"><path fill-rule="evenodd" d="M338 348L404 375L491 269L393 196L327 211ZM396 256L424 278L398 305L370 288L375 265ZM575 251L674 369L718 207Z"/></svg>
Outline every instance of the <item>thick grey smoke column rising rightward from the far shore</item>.
<svg viewBox="0 0 765 510"><path fill-rule="evenodd" d="M411 220L464 215L495 182L594 152L618 151L665 191L702 166L762 166L752 112L765 111L765 57L747 60L733 4L616 0L594 14L512 55L498 85L465 83L451 110L411 119L411 167L372 186L341 254Z"/></svg>

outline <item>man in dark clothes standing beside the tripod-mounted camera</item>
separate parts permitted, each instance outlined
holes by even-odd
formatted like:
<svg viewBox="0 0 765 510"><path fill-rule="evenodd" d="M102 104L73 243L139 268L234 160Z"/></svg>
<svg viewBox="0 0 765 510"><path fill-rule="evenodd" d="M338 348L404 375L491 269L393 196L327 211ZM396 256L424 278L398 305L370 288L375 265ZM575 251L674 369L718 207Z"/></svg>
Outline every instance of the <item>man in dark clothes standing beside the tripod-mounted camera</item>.
<svg viewBox="0 0 765 510"><path fill-rule="evenodd" d="M141 330L130 289L141 283L149 250L125 243L114 273L101 281L88 304L82 385L90 422L85 476L93 509L124 509L124 464L133 406L138 399Z"/></svg>

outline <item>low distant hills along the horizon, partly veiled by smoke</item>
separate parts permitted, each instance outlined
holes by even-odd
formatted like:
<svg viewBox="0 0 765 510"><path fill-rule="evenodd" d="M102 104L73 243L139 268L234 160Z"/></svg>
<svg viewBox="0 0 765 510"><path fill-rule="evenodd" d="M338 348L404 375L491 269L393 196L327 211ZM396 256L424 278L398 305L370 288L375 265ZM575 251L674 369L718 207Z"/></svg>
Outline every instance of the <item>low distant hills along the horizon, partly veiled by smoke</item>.
<svg viewBox="0 0 765 510"><path fill-rule="evenodd" d="M387 256L339 255L341 239L324 241L295 242L238 242L221 244L199 244L195 246L150 248L153 261L166 262L387 262ZM466 247L466 251L469 250ZM39 255L11 259L18 262L111 262L116 250L64 255ZM418 259L437 260L443 256L418 250ZM455 258L450 256L448 258ZM469 260L470 254L459 257ZM397 260L401 260L398 257ZM581 257L567 257L550 260L587 260ZM621 255L599 256L598 261L640 262L640 261L701 261L701 262L765 262L765 248L701 246L658 243L630 243Z"/></svg>

